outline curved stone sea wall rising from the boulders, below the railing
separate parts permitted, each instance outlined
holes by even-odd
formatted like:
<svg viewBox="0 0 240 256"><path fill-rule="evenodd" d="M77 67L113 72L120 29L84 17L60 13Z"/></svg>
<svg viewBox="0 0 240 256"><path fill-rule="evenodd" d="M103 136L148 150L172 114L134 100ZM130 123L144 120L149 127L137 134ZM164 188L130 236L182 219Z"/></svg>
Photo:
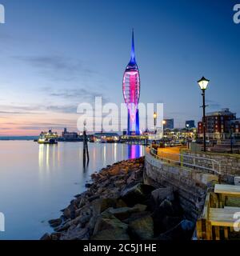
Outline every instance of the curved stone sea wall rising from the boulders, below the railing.
<svg viewBox="0 0 240 256"><path fill-rule="evenodd" d="M172 166L146 153L144 181L153 186L172 186L186 218L196 221L202 212L206 191L213 181L214 174L204 174L183 166Z"/></svg>

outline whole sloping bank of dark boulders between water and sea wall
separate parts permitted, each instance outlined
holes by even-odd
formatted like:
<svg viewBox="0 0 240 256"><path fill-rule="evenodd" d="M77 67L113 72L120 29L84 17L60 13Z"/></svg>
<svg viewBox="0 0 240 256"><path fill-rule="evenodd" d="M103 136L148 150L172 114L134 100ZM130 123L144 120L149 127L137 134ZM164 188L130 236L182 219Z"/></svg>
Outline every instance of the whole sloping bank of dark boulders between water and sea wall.
<svg viewBox="0 0 240 256"><path fill-rule="evenodd" d="M190 239L186 220L171 187L143 183L144 158L122 161L92 175L62 216L50 221L54 233L42 240Z"/></svg>

